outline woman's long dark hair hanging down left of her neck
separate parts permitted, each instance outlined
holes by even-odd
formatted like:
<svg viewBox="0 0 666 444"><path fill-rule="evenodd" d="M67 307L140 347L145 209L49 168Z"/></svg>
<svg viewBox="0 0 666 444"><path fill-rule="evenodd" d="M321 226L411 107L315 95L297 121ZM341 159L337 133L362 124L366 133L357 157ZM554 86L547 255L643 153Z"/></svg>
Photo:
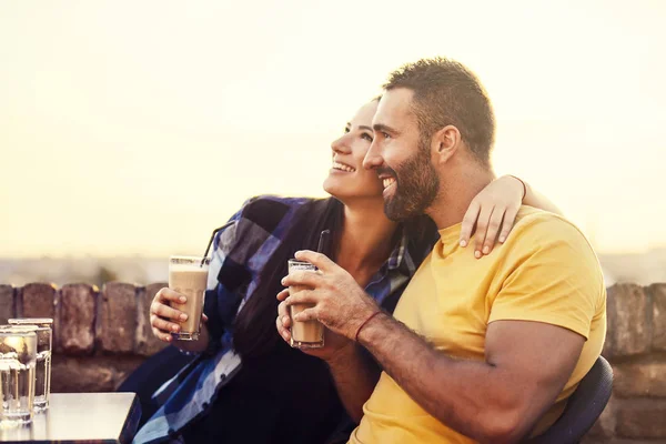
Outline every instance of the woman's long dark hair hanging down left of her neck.
<svg viewBox="0 0 666 444"><path fill-rule="evenodd" d="M303 204L259 275L259 282L234 322L233 345L244 359L259 356L282 341L275 329L279 301L284 290L287 261L299 250L315 251L323 230L331 230L333 241L342 226L343 204L336 199L317 199ZM330 252L325 252L330 255Z"/></svg>

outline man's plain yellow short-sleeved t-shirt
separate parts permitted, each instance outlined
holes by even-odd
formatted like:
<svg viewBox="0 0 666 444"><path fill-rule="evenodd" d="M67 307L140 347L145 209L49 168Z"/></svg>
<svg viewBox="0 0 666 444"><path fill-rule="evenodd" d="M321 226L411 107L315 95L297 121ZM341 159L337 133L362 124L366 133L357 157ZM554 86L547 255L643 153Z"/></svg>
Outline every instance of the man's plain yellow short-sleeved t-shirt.
<svg viewBox="0 0 666 444"><path fill-rule="evenodd" d="M587 340L578 363L535 433L552 425L602 352L606 289L584 235L558 215L523 206L503 245L476 260L458 246L460 224L440 241L402 295L395 317L448 356L484 360L487 325L498 320L545 322ZM382 373L353 444L473 443L442 424Z"/></svg>

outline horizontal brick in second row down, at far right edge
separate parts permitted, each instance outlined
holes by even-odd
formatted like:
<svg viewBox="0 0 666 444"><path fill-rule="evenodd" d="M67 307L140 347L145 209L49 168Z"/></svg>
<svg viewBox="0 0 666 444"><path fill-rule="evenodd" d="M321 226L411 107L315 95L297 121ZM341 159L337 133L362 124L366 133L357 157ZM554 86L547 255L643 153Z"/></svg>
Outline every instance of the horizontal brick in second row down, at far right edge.
<svg viewBox="0 0 666 444"><path fill-rule="evenodd" d="M666 362L617 364L613 393L620 397L666 397Z"/></svg>

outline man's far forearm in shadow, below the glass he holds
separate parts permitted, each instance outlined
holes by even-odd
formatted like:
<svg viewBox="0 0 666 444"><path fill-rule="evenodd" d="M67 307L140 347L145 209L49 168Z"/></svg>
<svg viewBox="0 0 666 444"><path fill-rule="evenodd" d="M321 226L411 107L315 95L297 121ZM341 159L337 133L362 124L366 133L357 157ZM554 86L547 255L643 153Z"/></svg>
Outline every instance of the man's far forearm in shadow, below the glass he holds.
<svg viewBox="0 0 666 444"><path fill-rule="evenodd" d="M363 404L374 390L380 369L371 356L353 344L327 361L337 394L355 423L363 417Z"/></svg>

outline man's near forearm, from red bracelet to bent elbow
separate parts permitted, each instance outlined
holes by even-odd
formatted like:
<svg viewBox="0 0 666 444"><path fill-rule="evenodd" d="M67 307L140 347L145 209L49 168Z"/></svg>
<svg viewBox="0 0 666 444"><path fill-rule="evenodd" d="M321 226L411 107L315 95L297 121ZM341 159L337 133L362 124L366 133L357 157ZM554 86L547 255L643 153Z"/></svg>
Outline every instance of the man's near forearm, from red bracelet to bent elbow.
<svg viewBox="0 0 666 444"><path fill-rule="evenodd" d="M515 424L515 400L503 375L485 362L455 361L390 315L362 330L360 343L426 412L481 442L511 442L504 424ZM522 433L518 433L522 434ZM519 436L517 436L519 437Z"/></svg>

